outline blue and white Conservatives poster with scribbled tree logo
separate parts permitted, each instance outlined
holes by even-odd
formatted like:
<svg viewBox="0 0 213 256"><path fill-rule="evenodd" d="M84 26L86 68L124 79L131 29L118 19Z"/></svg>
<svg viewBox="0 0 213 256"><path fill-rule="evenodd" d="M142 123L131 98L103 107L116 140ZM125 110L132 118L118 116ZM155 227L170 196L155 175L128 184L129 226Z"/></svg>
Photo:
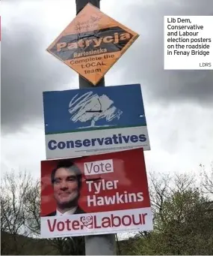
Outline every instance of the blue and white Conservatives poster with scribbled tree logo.
<svg viewBox="0 0 213 256"><path fill-rule="evenodd" d="M43 110L47 159L150 149L140 84L43 92Z"/></svg>

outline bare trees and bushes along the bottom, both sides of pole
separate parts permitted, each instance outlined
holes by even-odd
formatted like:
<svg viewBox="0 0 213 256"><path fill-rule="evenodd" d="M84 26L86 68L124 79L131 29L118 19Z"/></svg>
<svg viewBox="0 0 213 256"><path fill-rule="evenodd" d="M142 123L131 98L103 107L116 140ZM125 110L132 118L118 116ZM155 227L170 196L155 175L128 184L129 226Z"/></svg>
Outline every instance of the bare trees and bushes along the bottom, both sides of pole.
<svg viewBox="0 0 213 256"><path fill-rule="evenodd" d="M213 254L213 167L200 175L148 173L154 230L117 239L117 254ZM40 181L1 177L1 255L84 255L84 237L40 239ZM117 236L116 236L117 237Z"/></svg>

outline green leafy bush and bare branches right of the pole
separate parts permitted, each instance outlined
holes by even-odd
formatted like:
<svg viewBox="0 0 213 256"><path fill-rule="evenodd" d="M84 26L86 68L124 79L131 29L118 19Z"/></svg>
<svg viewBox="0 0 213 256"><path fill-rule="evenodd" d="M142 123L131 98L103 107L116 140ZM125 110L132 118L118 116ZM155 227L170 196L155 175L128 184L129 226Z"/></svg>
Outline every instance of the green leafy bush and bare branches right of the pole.
<svg viewBox="0 0 213 256"><path fill-rule="evenodd" d="M205 174L207 175L207 173ZM208 174L211 176L211 173ZM211 179L197 186L193 177L150 176L155 228L123 241L120 254L213 254L213 201L203 190Z"/></svg>

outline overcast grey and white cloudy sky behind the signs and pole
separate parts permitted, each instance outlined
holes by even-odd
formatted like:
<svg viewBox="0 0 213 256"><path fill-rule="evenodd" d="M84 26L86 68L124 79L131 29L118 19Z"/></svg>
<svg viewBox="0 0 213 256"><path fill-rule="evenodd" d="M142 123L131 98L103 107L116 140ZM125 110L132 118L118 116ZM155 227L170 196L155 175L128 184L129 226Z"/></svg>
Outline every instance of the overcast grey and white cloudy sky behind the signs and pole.
<svg viewBox="0 0 213 256"><path fill-rule="evenodd" d="M105 83L141 83L151 145L147 170L210 166L213 72L164 71L163 17L213 15L213 1L102 0L101 9L140 35ZM75 0L7 0L1 15L1 170L27 169L39 177L46 158L42 92L78 88L75 71L46 52L75 17Z"/></svg>

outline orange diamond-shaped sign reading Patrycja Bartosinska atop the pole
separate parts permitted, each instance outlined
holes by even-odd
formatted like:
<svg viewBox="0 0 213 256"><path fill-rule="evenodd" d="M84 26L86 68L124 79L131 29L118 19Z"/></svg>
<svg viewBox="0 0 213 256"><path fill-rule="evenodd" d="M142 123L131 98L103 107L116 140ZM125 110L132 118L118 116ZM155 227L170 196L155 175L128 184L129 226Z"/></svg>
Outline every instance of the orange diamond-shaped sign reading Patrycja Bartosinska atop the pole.
<svg viewBox="0 0 213 256"><path fill-rule="evenodd" d="M47 51L96 86L138 36L87 4Z"/></svg>

